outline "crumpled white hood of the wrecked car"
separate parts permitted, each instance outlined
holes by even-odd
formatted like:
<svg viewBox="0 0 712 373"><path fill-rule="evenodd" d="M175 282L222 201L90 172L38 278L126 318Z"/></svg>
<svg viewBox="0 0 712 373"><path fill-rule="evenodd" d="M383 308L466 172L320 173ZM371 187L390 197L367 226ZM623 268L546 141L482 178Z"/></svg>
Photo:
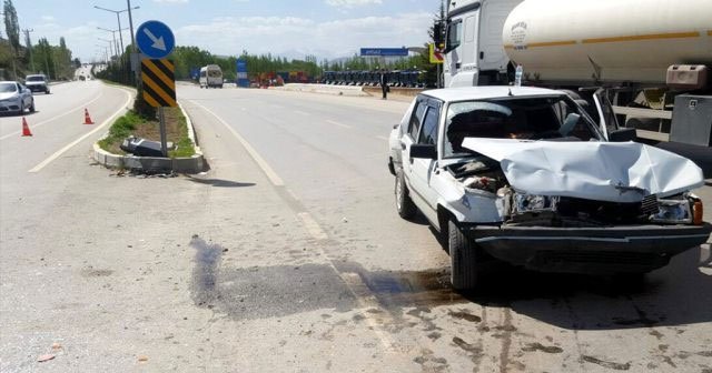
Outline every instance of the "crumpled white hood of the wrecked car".
<svg viewBox="0 0 712 373"><path fill-rule="evenodd" d="M635 142L557 142L467 138L463 147L500 162L516 191L637 202L702 186L686 158Z"/></svg>

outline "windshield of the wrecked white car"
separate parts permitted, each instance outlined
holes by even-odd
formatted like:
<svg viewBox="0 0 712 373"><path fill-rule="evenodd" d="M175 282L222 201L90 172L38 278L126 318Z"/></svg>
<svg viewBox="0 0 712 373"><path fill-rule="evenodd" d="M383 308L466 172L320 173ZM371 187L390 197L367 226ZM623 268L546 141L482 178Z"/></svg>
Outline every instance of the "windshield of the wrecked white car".
<svg viewBox="0 0 712 373"><path fill-rule="evenodd" d="M589 117L564 95L451 103L447 109L445 135L445 158L471 154L471 151L462 148L465 138L565 138L573 141L601 139Z"/></svg>

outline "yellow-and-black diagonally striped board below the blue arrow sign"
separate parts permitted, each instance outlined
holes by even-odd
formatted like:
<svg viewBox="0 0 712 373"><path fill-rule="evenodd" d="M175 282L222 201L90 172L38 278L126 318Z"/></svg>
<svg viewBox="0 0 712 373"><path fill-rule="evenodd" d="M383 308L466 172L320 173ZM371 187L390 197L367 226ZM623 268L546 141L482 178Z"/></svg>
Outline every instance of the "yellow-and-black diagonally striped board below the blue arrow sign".
<svg viewBox="0 0 712 373"><path fill-rule="evenodd" d="M176 74L174 63L167 59L141 61L144 100L154 108L175 108Z"/></svg>

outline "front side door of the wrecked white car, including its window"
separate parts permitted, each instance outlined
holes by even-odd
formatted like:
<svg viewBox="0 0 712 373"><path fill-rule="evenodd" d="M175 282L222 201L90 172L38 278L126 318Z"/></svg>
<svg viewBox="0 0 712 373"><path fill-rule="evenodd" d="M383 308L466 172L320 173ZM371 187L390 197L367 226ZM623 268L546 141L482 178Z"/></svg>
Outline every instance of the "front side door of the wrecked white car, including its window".
<svg viewBox="0 0 712 373"><path fill-rule="evenodd" d="M421 102L422 118L417 137L418 144L437 147L441 104L437 100L428 99ZM419 109L419 108L418 108ZM406 160L404 160L406 162ZM437 222L437 193L431 188L431 180L437 169L437 160L425 158L407 158L409 165L411 199L433 223Z"/></svg>

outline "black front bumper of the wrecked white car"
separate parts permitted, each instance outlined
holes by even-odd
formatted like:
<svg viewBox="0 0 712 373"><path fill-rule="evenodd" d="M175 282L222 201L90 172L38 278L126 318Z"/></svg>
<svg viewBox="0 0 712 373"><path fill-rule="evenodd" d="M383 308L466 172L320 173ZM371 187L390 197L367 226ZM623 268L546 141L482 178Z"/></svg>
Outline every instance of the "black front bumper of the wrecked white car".
<svg viewBox="0 0 712 373"><path fill-rule="evenodd" d="M710 238L712 225L615 228L464 226L476 246L526 269L563 273L644 273Z"/></svg>

